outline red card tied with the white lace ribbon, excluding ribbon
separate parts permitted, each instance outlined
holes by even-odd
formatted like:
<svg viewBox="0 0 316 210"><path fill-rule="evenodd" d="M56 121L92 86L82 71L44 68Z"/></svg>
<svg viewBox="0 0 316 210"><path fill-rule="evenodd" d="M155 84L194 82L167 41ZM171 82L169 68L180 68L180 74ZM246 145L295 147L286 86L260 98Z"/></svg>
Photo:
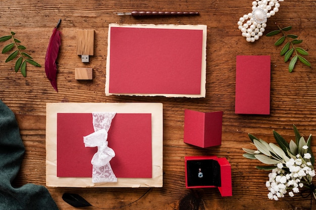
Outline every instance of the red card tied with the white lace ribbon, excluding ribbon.
<svg viewBox="0 0 316 210"><path fill-rule="evenodd" d="M96 147L83 136L94 132L91 113L57 114L57 176L91 177ZM117 178L151 178L151 114L116 114L108 135L116 155L110 164Z"/></svg>

